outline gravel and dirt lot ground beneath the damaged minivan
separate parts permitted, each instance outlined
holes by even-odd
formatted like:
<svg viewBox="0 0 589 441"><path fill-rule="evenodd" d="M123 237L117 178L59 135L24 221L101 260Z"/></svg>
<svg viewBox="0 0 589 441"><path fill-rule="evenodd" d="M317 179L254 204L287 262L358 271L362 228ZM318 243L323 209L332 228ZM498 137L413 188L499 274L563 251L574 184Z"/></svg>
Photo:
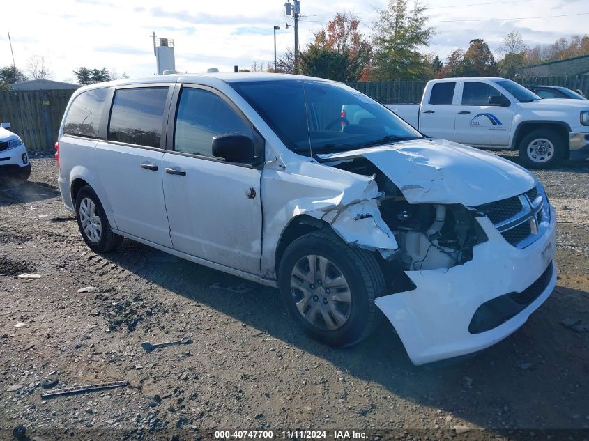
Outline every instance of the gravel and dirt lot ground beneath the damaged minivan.
<svg viewBox="0 0 589 441"><path fill-rule="evenodd" d="M272 288L212 288L244 282L128 240L94 254L63 208L52 157L31 163L28 182L0 187L0 428L24 424L45 439L101 429L141 439L163 428L398 428L436 439L473 428L473 439L589 428L588 164L536 173L558 210L549 300L476 357L415 367L388 323L333 350L298 332ZM24 272L41 277L17 279ZM78 293L87 286L95 291ZM182 336L193 343L140 346ZM129 387L43 400L47 377Z"/></svg>

